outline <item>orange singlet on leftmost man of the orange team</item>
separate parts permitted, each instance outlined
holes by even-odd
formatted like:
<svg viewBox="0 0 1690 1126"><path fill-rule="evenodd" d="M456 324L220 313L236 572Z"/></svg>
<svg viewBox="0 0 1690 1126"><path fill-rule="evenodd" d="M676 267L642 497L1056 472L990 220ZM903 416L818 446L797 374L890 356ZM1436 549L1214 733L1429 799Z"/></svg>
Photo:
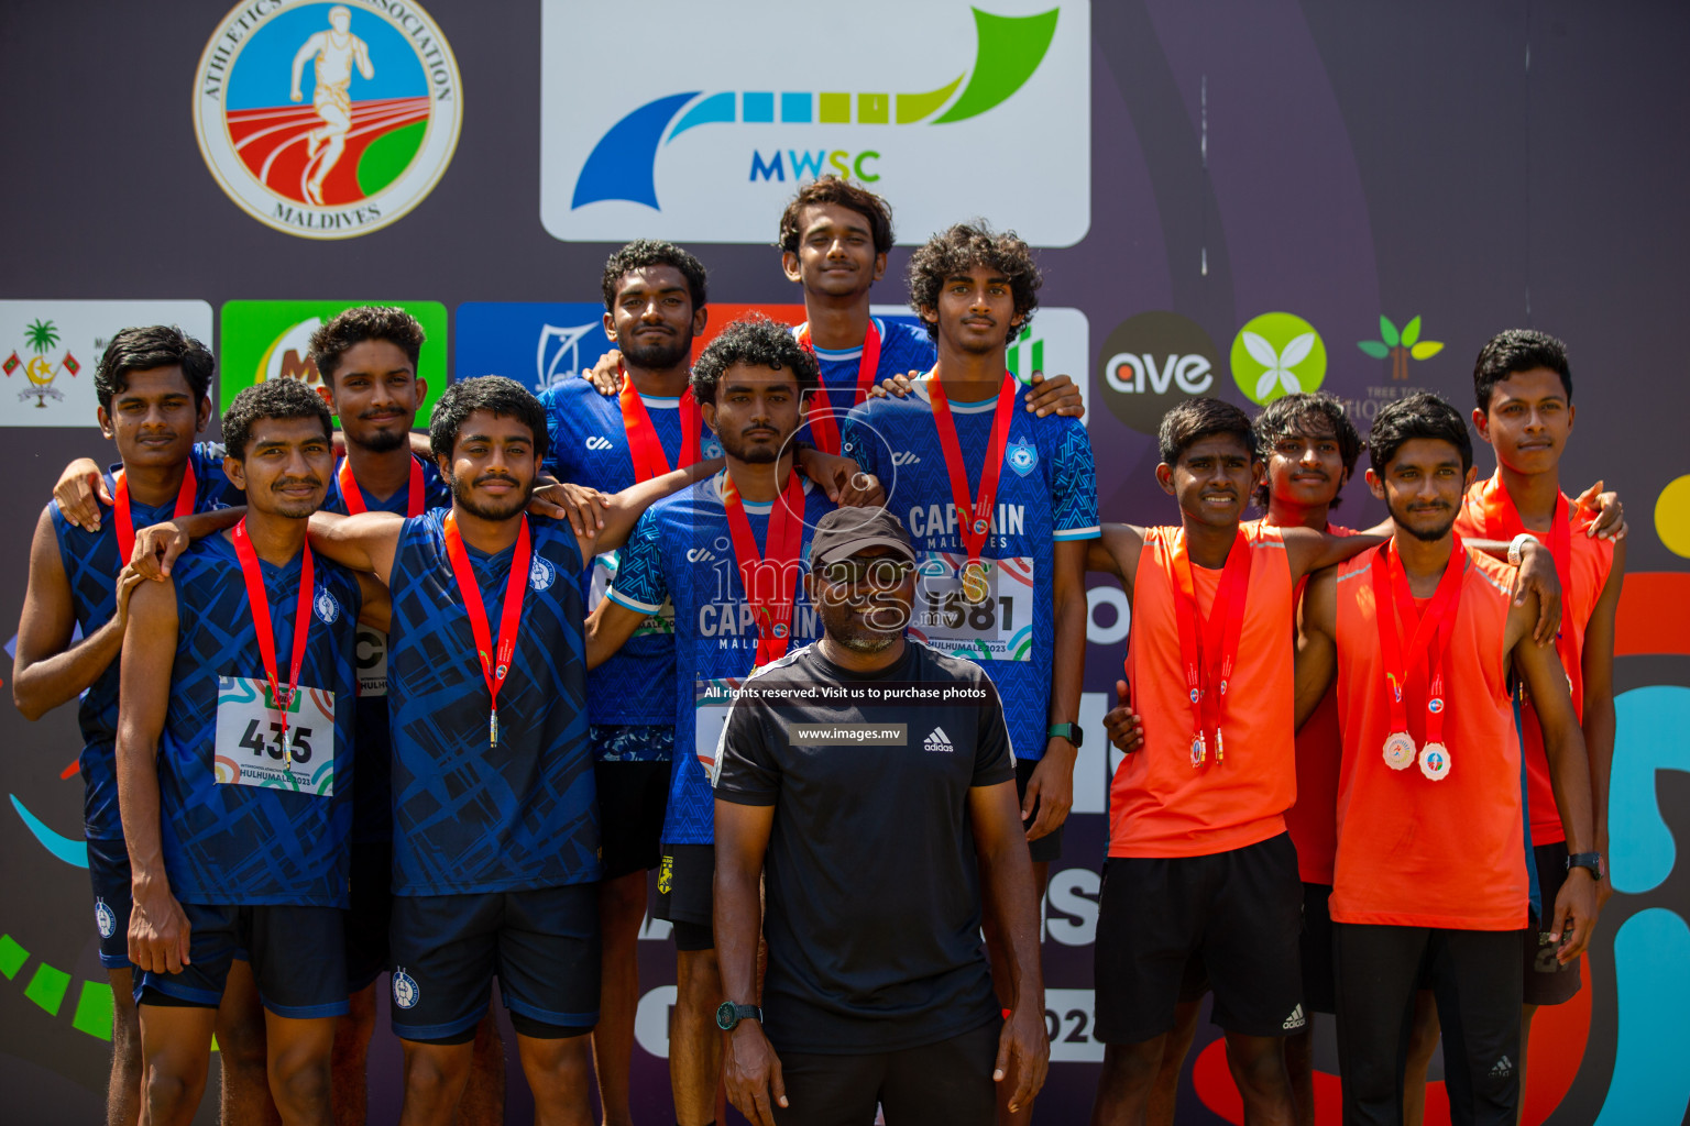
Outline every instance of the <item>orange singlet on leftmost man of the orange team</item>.
<svg viewBox="0 0 1690 1126"><path fill-rule="evenodd" d="M1144 746L1115 770L1110 856L1212 856L1284 832L1296 800L1291 567L1279 530L1242 525L1254 552L1235 670L1225 696L1225 756L1191 765L1191 702L1180 657L1173 549L1183 528L1146 528L1132 586L1127 679ZM1207 618L1220 571L1191 567Z"/></svg>

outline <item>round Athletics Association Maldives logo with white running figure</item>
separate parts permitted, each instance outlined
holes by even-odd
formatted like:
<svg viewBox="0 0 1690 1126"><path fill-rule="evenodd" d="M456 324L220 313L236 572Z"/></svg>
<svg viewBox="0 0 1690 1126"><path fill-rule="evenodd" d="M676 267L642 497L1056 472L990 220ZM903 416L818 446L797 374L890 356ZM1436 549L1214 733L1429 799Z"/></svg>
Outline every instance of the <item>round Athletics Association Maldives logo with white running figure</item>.
<svg viewBox="0 0 1690 1126"><path fill-rule="evenodd" d="M352 238L417 206L458 147L463 89L411 0L242 3L194 73L206 167L247 214Z"/></svg>

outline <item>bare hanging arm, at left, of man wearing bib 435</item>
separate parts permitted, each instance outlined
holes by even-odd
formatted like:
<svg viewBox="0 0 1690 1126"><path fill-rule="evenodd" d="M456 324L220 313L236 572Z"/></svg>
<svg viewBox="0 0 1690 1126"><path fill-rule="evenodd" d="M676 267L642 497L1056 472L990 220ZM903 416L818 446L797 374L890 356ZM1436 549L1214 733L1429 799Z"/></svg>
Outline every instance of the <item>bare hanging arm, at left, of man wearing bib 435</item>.
<svg viewBox="0 0 1690 1126"><path fill-rule="evenodd" d="M123 636L123 692L117 714L117 788L135 907L128 957L137 969L181 972L188 964L188 917L171 895L159 829L159 736L176 663L176 581L144 582L130 604L135 628Z"/></svg>

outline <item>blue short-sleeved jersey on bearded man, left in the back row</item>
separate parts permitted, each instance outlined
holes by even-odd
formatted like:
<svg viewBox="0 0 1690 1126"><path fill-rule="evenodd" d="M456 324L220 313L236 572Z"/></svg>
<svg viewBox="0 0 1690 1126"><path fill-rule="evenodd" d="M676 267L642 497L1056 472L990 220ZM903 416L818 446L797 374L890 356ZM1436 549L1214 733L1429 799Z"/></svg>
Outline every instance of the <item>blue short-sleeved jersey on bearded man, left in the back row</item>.
<svg viewBox="0 0 1690 1126"><path fill-rule="evenodd" d="M551 439L548 473L559 481L586 485L603 493L634 488L634 457L615 395L598 393L592 380L570 380L546 388L541 402L546 403L546 432ZM657 432L662 456L671 468L679 466L681 400L641 395L641 402ZM700 456L722 456L722 444L703 422ZM592 560L583 589L586 613L593 613L615 581L619 562L620 552L605 552ZM610 660L586 674L586 711L597 724L671 724L674 701L668 692L652 692L651 687L673 680L674 609L662 603Z"/></svg>

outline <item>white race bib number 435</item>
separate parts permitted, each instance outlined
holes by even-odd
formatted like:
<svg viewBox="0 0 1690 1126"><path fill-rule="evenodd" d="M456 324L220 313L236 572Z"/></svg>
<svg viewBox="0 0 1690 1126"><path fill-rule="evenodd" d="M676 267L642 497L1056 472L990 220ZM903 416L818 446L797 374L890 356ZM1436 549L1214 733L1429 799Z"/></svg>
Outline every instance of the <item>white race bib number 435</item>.
<svg viewBox="0 0 1690 1126"><path fill-rule="evenodd" d="M287 709L255 677L218 677L213 770L220 785L333 797L335 694L299 685Z"/></svg>

